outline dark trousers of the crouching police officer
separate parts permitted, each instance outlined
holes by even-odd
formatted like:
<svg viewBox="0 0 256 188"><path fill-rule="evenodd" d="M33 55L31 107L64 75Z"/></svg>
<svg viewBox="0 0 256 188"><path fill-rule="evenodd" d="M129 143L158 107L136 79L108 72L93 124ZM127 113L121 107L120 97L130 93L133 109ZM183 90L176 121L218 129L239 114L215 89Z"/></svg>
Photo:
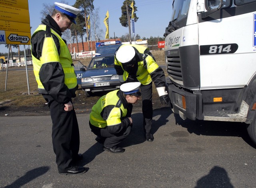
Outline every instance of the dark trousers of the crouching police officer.
<svg viewBox="0 0 256 188"><path fill-rule="evenodd" d="M113 148L116 149L117 145L122 142L122 140L124 140L126 137L128 137L131 133L132 130L132 126L128 126L126 128L126 130L118 133L118 134L111 134L108 131L108 126L104 127L104 128L98 128L96 126L93 126L90 122L90 128L92 130L92 132L97 135L97 136L102 136L104 138L106 138L105 142L104 142L104 146L107 146L108 148Z"/></svg>

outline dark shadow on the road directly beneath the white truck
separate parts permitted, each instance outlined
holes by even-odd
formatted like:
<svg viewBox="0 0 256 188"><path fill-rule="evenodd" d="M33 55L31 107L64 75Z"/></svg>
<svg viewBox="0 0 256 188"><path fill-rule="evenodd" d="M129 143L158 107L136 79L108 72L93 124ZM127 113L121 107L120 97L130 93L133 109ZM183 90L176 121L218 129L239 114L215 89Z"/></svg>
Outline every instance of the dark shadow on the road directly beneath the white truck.
<svg viewBox="0 0 256 188"><path fill-rule="evenodd" d="M204 120L182 120L178 114L174 114L176 125L187 128L190 134L206 136L236 136L241 137L251 147L256 148L250 140L246 130L246 124L241 122L220 122Z"/></svg>

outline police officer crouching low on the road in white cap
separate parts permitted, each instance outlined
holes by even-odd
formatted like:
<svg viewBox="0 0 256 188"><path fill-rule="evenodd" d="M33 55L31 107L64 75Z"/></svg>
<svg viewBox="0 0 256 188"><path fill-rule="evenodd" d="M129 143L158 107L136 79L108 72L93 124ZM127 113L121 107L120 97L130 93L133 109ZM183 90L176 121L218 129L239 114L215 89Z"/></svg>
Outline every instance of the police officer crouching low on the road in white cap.
<svg viewBox="0 0 256 188"><path fill-rule="evenodd" d="M129 136L132 129L132 104L139 99L140 82L122 84L120 90L102 96L92 107L90 128L97 135L97 142L112 153L122 153L118 144Z"/></svg>

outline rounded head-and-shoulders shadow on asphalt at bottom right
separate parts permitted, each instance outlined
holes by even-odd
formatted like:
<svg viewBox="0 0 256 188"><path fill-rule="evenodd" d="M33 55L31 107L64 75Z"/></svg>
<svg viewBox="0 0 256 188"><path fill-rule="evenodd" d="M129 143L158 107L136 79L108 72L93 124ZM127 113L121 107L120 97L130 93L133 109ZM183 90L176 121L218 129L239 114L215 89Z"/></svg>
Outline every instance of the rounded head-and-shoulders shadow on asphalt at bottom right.
<svg viewBox="0 0 256 188"><path fill-rule="evenodd" d="M214 166L209 174L200 178L196 182L195 188L233 188L234 186L230 183L228 173L224 168Z"/></svg>

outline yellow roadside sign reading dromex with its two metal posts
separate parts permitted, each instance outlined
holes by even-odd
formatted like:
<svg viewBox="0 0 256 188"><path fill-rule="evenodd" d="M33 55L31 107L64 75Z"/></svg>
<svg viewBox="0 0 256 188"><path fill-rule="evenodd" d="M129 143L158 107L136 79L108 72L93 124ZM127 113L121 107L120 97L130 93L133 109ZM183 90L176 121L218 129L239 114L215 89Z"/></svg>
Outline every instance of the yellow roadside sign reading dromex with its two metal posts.
<svg viewBox="0 0 256 188"><path fill-rule="evenodd" d="M24 44L30 45L30 18L28 11L28 0L0 0L0 44L9 44L9 53L11 44ZM26 62L26 53L25 62ZM9 63L9 54L7 60L6 68L6 82L5 82L5 91L7 85L7 76L8 76L8 63ZM28 82L28 68L26 64L26 75ZM28 83L28 94L29 83Z"/></svg>

